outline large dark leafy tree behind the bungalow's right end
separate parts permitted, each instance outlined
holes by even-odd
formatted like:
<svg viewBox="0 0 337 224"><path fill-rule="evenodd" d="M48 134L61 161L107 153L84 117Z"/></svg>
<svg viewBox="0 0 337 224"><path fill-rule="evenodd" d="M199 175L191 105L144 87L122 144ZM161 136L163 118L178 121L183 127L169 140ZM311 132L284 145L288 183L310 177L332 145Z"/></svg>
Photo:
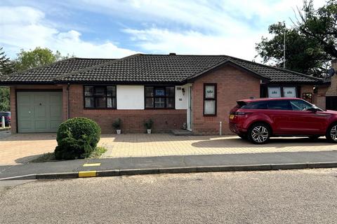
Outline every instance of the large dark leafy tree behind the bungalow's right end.
<svg viewBox="0 0 337 224"><path fill-rule="evenodd" d="M286 28L284 23L270 25L272 38L262 37L256 51L263 62L282 67L284 32L286 34L286 69L324 76L330 61L337 57L337 1L328 1L315 10L312 1L304 1L303 11L298 9L298 20ZM258 56L257 55L257 56Z"/></svg>

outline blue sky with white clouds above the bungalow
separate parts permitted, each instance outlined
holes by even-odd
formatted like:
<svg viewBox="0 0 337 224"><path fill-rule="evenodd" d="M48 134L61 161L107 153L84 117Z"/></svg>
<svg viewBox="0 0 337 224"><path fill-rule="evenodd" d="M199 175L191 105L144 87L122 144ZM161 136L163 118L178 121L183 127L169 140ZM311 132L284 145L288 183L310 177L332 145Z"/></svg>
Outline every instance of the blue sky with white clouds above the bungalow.
<svg viewBox="0 0 337 224"><path fill-rule="evenodd" d="M319 7L324 0L314 0ZM14 59L37 46L76 57L230 55L252 60L275 22L303 0L0 0L0 47Z"/></svg>

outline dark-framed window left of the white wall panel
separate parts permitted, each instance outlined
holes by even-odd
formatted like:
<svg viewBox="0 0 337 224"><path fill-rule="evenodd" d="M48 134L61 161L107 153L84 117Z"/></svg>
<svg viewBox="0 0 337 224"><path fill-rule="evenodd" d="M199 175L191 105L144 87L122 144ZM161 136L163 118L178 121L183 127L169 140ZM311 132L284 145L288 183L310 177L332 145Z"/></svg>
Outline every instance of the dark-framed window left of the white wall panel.
<svg viewBox="0 0 337 224"><path fill-rule="evenodd" d="M116 109L115 85L84 86L84 108L86 109Z"/></svg>

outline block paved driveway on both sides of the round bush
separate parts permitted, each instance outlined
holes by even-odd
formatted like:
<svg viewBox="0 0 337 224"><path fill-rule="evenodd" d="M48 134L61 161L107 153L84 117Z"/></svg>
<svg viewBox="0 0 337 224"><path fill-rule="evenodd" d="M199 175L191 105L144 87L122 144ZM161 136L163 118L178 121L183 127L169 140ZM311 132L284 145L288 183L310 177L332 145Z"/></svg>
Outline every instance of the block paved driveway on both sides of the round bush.
<svg viewBox="0 0 337 224"><path fill-rule="evenodd" d="M56 134L0 134L0 166L19 165L54 151ZM337 144L324 138L275 138L269 144L253 145L234 136L187 136L172 134L103 134L99 146L106 146L104 158L165 155L217 155L233 153L278 153L333 151Z"/></svg>

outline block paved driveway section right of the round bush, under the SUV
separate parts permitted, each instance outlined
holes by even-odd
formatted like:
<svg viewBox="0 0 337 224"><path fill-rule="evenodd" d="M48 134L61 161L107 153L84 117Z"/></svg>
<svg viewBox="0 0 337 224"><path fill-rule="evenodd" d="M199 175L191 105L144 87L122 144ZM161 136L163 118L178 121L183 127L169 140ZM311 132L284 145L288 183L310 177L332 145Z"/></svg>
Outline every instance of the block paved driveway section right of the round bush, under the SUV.
<svg viewBox="0 0 337 224"><path fill-rule="evenodd" d="M114 134L103 137L100 144L109 148L103 155L105 158L337 150L337 144L330 144L325 138L317 141L273 138L268 144L254 145L236 136L182 137L172 134Z"/></svg>

